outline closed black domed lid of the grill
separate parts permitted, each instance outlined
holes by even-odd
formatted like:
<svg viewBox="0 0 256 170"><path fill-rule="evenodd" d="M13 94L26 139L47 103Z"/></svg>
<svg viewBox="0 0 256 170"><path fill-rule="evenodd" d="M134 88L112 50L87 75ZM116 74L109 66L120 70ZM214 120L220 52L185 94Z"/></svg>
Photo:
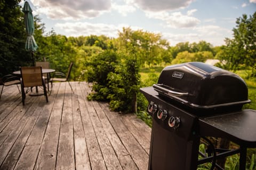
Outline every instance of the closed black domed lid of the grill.
<svg viewBox="0 0 256 170"><path fill-rule="evenodd" d="M233 72L202 62L165 67L153 85L159 96L192 108L243 106L248 100L244 80Z"/></svg>

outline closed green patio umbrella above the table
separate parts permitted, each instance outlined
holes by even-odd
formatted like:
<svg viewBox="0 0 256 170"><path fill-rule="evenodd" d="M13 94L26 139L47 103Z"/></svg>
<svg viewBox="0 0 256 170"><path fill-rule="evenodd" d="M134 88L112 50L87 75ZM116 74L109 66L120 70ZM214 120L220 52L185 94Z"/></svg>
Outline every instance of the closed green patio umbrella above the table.
<svg viewBox="0 0 256 170"><path fill-rule="evenodd" d="M25 27L26 27L26 33L27 33L27 41L25 44L26 50L29 50L31 52L31 56L33 59L33 65L35 66L35 59L34 59L34 52L38 48L35 38L34 38L34 19L33 19L33 14L31 7L29 3L26 1L23 8L22 12L25 14L24 20L25 20Z"/></svg>

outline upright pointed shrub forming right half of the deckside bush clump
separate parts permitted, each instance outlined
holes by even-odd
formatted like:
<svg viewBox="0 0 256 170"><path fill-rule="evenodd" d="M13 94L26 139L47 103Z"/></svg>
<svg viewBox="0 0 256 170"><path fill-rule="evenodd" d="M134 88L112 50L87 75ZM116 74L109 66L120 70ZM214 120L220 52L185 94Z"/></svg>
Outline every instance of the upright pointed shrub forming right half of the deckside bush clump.
<svg viewBox="0 0 256 170"><path fill-rule="evenodd" d="M108 75L109 87L114 92L109 95L110 108L124 112L137 112L134 104L139 93L139 64L134 54L125 55L115 73Z"/></svg>

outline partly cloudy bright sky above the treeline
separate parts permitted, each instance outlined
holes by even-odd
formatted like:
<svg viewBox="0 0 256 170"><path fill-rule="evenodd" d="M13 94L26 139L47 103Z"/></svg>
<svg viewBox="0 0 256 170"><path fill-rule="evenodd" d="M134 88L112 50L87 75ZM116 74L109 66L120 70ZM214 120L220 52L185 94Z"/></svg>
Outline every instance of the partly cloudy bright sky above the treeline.
<svg viewBox="0 0 256 170"><path fill-rule="evenodd" d="M69 36L118 37L123 27L160 33L171 46L206 41L225 45L236 19L256 12L256 0L26 0L33 14ZM20 3L23 6L25 1Z"/></svg>

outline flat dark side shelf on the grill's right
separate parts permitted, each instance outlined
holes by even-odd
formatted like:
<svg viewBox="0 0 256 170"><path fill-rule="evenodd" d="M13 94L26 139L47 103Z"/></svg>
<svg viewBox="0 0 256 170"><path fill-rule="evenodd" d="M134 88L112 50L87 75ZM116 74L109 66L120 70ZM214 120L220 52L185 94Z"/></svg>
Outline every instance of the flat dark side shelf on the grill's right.
<svg viewBox="0 0 256 170"><path fill-rule="evenodd" d="M199 118L199 135L225 137L247 148L256 148L256 110Z"/></svg>

